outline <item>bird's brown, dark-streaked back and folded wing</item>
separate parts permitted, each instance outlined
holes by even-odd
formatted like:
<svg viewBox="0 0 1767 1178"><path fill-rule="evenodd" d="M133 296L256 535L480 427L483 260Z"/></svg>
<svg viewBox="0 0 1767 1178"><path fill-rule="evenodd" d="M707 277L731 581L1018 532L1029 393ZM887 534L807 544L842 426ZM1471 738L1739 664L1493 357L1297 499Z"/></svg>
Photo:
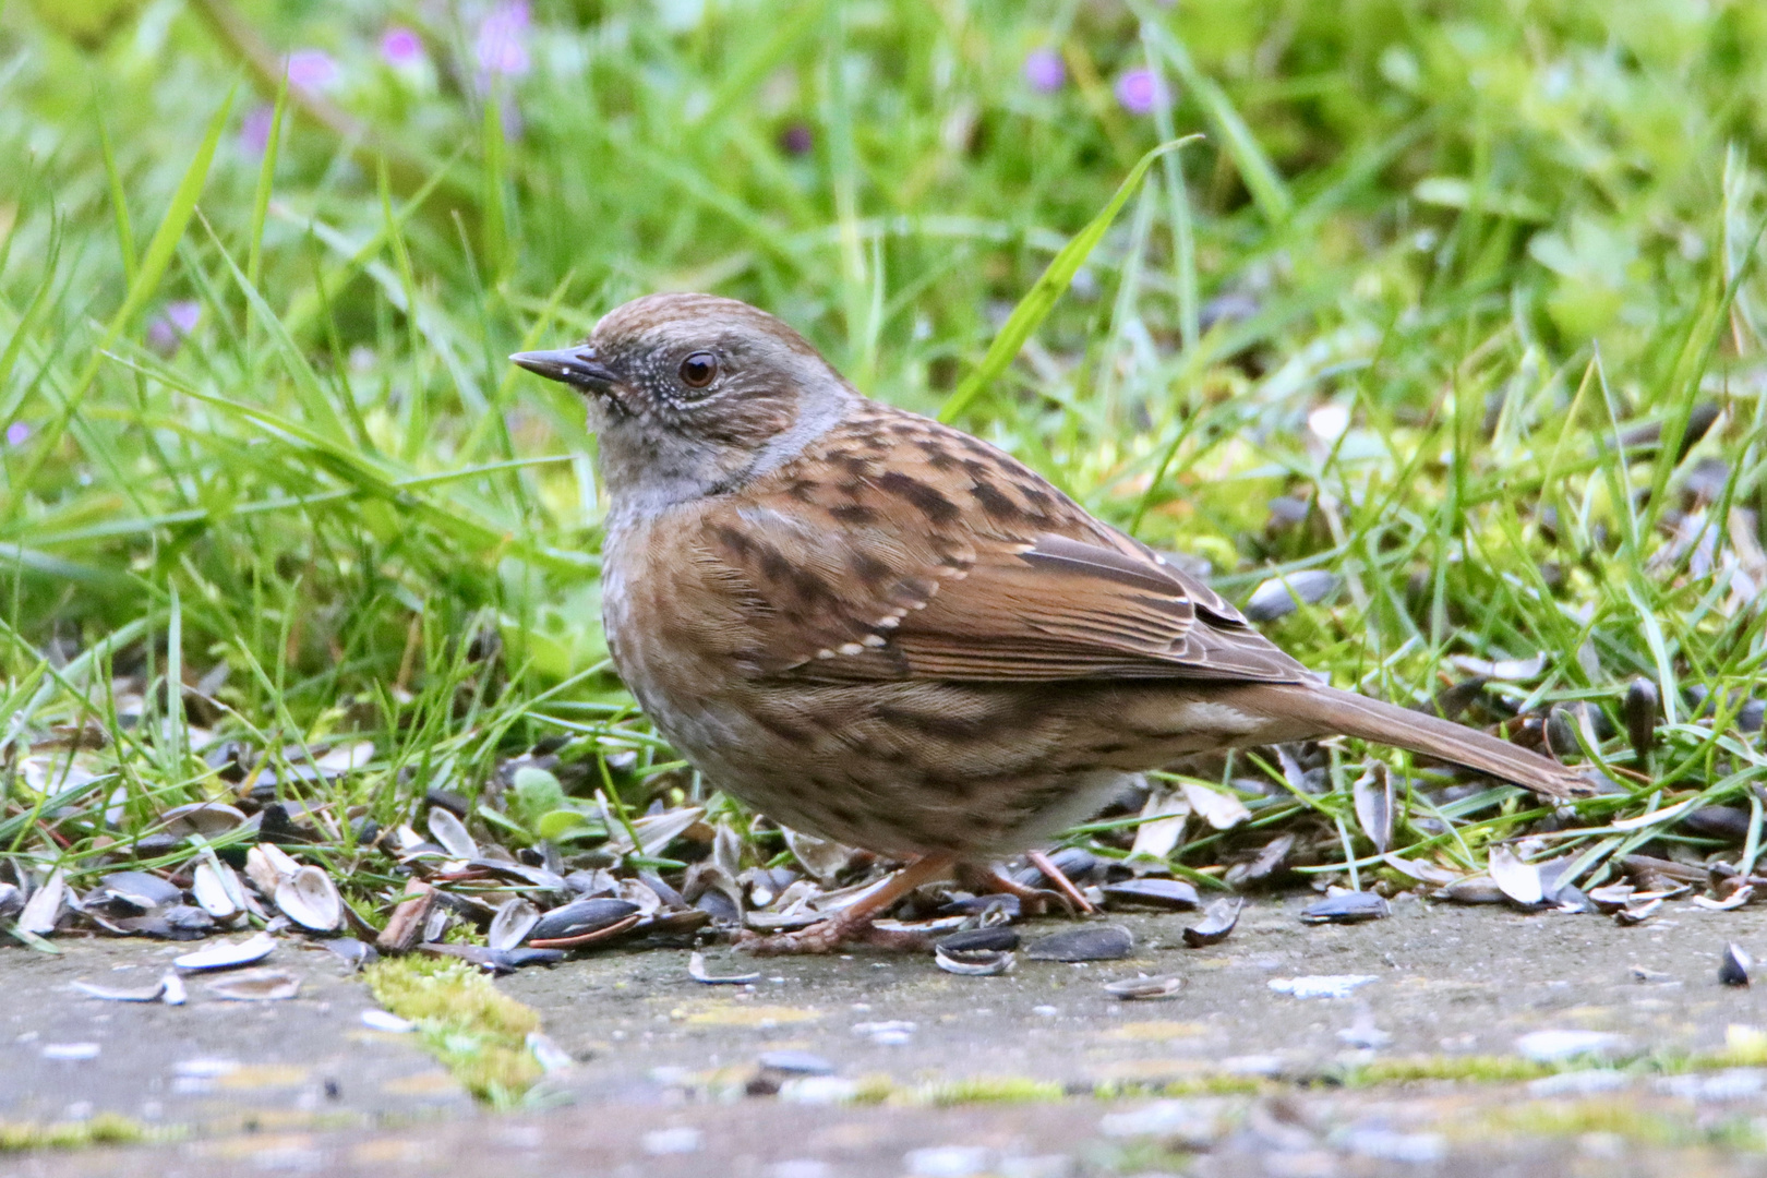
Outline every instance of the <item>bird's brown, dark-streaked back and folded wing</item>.
<svg viewBox="0 0 1767 1178"><path fill-rule="evenodd" d="M988 443L868 406L709 502L700 570L758 676L1196 678L1306 669L1207 585Z"/></svg>

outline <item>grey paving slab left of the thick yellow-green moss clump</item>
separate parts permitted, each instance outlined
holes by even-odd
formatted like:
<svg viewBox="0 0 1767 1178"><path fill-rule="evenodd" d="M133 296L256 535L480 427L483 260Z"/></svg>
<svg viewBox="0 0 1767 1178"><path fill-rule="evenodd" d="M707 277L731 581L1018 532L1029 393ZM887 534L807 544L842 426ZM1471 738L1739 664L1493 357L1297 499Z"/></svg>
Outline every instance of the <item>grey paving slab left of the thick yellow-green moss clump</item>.
<svg viewBox="0 0 1767 1178"><path fill-rule="evenodd" d="M214 943L214 941L209 941ZM187 1001L102 1001L76 978L150 985L193 943L58 938L60 955L0 948L0 1123L99 1113L196 1134L474 1114L472 1099L410 1035L362 1024L368 987L332 954L283 940L265 966L299 998L223 1001L184 978Z"/></svg>

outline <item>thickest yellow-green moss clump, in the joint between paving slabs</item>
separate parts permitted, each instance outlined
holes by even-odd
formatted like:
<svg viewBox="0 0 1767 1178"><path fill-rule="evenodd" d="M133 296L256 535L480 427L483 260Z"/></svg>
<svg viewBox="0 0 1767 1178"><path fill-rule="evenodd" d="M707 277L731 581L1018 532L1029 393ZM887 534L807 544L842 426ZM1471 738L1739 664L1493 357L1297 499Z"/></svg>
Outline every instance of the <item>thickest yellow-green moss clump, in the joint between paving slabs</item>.
<svg viewBox="0 0 1767 1178"><path fill-rule="evenodd" d="M424 1046L474 1097L516 1104L541 1077L527 1038L541 1017L463 961L399 957L366 970L375 998L422 1033Z"/></svg>

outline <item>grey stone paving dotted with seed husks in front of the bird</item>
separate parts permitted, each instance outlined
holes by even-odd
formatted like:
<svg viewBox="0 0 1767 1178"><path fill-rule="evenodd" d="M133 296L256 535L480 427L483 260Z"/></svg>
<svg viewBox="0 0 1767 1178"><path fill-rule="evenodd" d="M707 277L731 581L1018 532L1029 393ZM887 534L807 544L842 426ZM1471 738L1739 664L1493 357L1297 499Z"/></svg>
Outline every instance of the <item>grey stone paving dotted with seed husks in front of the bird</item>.
<svg viewBox="0 0 1767 1178"><path fill-rule="evenodd" d="M171 1008L67 989L115 964L157 970L159 945L0 950L0 1123L118 1111L191 1130L155 1148L0 1155L0 1178L1767 1173L1767 1067L1666 1074L1767 1044L1767 993L1716 977L1726 941L1767 955L1767 910L1680 904L1619 927L1401 899L1384 922L1308 927L1302 902L1256 902L1202 950L1179 940L1186 917L1113 917L1136 933L1129 961L1021 955L1005 977L728 950L709 954L710 973L758 966L762 980L703 985L679 950L530 970L500 985L576 1063L535 1095L558 1107L511 1116L472 1113L408 1038L368 1031L366 991L327 954L277 950L307 978L295 1001L219 1003L193 985ZM1057 927L1071 925L1027 933ZM1103 991L1136 971L1186 984L1157 1003ZM1320 977L1373 980L1295 996ZM42 1058L74 1042L101 1051ZM1491 1083L1528 1054L1573 1070ZM827 1076L809 1074L818 1061ZM1149 1102L1147 1086L1172 1083L1194 1095ZM1141 1095L1106 1099L1113 1086ZM855 1093L876 1104L836 1104Z"/></svg>

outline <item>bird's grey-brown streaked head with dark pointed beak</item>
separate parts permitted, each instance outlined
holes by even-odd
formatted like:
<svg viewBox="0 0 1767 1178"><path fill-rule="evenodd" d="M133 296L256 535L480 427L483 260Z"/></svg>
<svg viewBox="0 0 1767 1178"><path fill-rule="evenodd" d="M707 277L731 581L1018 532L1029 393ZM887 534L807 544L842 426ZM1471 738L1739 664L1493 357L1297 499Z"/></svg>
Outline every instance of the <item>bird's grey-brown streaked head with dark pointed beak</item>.
<svg viewBox="0 0 1767 1178"><path fill-rule="evenodd" d="M716 295L645 295L574 348L509 359L587 396L615 512L733 491L859 401L802 336Z"/></svg>

